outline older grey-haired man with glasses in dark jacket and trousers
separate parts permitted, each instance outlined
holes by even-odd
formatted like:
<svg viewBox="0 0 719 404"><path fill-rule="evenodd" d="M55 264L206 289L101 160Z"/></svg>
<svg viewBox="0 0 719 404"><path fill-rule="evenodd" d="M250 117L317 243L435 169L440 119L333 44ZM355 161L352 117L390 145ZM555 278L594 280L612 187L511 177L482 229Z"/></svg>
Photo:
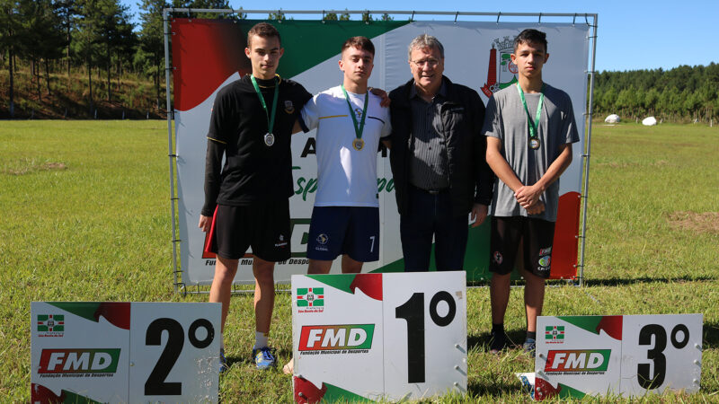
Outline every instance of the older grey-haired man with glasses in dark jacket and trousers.
<svg viewBox="0 0 719 404"><path fill-rule="evenodd" d="M390 162L406 271L427 271L432 237L438 270L463 267L468 231L484 222L493 173L480 131L484 103L442 75L444 48L423 34L409 46L413 79L390 92Z"/></svg>

